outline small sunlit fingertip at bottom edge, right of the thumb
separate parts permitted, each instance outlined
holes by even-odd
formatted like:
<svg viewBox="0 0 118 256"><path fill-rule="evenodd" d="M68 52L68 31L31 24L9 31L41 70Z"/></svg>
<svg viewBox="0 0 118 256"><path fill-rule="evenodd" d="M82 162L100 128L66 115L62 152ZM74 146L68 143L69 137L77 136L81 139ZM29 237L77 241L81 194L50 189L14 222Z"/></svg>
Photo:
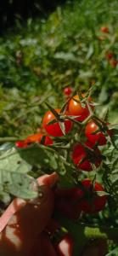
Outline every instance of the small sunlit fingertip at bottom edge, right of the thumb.
<svg viewBox="0 0 118 256"><path fill-rule="evenodd" d="M55 250L59 256L73 255L74 241L70 234L66 234L61 241L55 246Z"/></svg>

